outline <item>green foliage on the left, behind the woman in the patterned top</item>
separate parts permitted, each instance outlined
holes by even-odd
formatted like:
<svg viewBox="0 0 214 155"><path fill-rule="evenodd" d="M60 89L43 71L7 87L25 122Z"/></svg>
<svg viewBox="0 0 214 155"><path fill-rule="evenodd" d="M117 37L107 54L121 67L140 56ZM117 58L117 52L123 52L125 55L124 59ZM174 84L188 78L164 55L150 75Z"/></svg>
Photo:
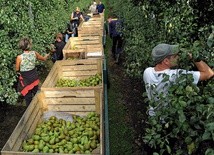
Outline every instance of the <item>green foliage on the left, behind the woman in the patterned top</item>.
<svg viewBox="0 0 214 155"><path fill-rule="evenodd" d="M1 1L0 11L0 102L16 104L15 58L20 54L18 41L23 36L33 40L33 50L42 55L54 42L55 34L64 33L76 6L88 8L90 0L16 0ZM40 64L41 62L38 62ZM42 63L43 64L43 63ZM44 65L42 65L45 67Z"/></svg>

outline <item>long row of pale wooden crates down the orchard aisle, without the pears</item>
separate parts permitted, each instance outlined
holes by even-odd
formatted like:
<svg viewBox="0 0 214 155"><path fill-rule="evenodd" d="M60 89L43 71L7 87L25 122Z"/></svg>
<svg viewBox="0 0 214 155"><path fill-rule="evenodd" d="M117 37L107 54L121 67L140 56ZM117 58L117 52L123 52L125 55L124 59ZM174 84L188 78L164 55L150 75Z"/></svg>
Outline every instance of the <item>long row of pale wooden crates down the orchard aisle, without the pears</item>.
<svg viewBox="0 0 214 155"><path fill-rule="evenodd" d="M47 112L66 113L84 117L91 112L99 116L99 146L90 154L104 155L104 89L103 89L103 25L104 15L92 17L79 26L79 36L71 37L63 54L65 59L56 61L48 76L13 133L1 150L1 155L56 155L69 153L24 152L23 141L29 139L37 125L44 121ZM80 57L80 55L83 57ZM75 57L75 59L69 59ZM78 58L78 59L77 59ZM102 82L96 86L56 87L59 79L87 79L101 75ZM85 153L75 153L85 154Z"/></svg>

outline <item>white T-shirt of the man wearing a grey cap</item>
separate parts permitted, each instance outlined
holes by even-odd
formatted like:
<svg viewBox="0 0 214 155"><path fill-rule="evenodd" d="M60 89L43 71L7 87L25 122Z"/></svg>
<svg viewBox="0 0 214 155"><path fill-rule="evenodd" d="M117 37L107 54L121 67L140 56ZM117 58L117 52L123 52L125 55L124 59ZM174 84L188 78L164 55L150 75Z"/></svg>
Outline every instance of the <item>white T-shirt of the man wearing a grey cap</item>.
<svg viewBox="0 0 214 155"><path fill-rule="evenodd" d="M160 93L166 95L170 84L174 83L176 78L178 78L181 74L192 74L194 84L197 84L200 78L199 71L187 71L183 69L166 69L163 71L155 71L154 67L146 68L143 73L143 80L148 98L152 99L153 97L158 96ZM166 76L164 75L168 75L169 79L165 81L164 77Z"/></svg>

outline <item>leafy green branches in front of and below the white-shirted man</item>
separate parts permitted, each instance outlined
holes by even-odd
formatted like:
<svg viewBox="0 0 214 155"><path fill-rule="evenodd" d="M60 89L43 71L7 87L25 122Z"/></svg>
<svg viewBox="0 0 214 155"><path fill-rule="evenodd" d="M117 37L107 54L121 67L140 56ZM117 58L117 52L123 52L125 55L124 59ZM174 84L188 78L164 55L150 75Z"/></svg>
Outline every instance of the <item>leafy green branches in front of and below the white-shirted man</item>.
<svg viewBox="0 0 214 155"><path fill-rule="evenodd" d="M188 76L178 78L167 97L159 96L161 105L156 115L148 118L144 142L159 149L160 154L193 154L203 142L214 140L214 100L207 92L213 90L210 88L214 81L209 81L209 88L199 89L191 79ZM157 106L155 101L149 104Z"/></svg>

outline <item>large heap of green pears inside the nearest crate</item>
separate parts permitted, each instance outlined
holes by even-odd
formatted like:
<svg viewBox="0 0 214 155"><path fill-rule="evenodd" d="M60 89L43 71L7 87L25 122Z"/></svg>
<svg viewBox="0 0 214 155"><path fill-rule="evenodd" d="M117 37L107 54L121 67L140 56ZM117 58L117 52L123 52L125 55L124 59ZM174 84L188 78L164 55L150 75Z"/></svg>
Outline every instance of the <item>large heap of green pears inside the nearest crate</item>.
<svg viewBox="0 0 214 155"><path fill-rule="evenodd" d="M66 121L51 116L37 125L35 132L22 143L24 152L90 154L100 146L100 117L89 112Z"/></svg>

